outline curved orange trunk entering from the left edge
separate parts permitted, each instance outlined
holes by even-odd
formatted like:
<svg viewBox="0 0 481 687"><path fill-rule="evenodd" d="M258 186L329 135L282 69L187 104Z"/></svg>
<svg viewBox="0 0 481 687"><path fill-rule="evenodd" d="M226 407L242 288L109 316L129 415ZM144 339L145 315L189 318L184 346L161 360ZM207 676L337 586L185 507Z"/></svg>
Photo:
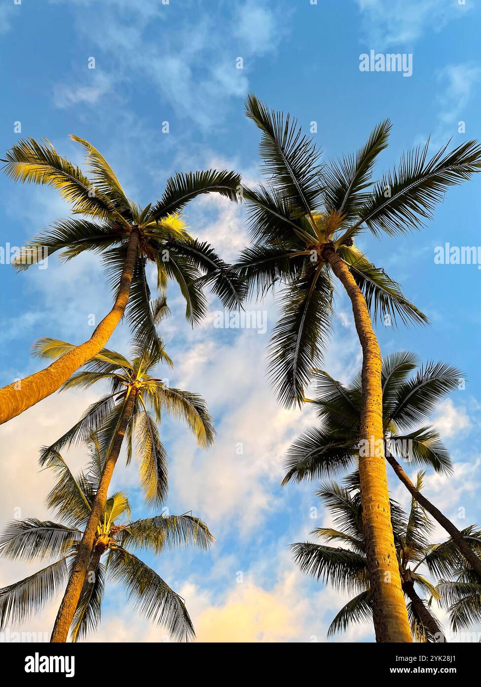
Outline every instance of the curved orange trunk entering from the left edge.
<svg viewBox="0 0 481 687"><path fill-rule="evenodd" d="M104 348L126 309L130 295L130 282L137 258L137 248L139 247L139 236L137 229L134 229L130 234L119 292L110 313L102 319L102 322L99 322L89 341L84 341L80 346L75 346L73 350L51 363L48 368L30 374L25 379L0 389L0 425L56 392L75 370L82 367L86 361Z"/></svg>

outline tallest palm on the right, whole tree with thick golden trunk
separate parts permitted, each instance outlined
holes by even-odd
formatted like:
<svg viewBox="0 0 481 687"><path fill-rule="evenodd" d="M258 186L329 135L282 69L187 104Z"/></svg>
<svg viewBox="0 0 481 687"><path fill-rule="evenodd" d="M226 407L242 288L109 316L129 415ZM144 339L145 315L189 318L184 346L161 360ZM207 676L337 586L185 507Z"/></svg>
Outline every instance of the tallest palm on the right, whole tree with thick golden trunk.
<svg viewBox="0 0 481 687"><path fill-rule="evenodd" d="M427 158L427 144L403 156L397 170L373 183L377 155L386 148L390 122L379 124L357 155L329 166L290 115L269 111L249 95L246 113L261 129L259 150L268 176L258 190L243 188L253 245L239 260L247 286L265 294L283 286L279 323L270 342L269 372L283 403L301 404L330 330L333 277L349 295L362 362L362 436L382 440L381 353L371 324L426 317L399 285L355 247L364 230L402 234L419 229L450 185L481 169L481 147L467 142ZM410 629L395 563L386 465L372 451L360 461L364 529L378 641L409 642ZM386 573L391 582L386 583Z"/></svg>

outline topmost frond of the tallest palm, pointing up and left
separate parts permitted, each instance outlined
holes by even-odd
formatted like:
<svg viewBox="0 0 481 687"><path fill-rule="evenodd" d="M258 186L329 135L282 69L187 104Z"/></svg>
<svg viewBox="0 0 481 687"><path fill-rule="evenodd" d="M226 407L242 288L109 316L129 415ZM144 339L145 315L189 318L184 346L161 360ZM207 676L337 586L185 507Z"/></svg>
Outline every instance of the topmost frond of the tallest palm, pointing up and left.
<svg viewBox="0 0 481 687"><path fill-rule="evenodd" d="M262 132L259 152L270 183L292 203L294 216L311 214L322 193L320 152L311 139L301 135L296 120L269 111L252 93L246 101L246 115Z"/></svg>

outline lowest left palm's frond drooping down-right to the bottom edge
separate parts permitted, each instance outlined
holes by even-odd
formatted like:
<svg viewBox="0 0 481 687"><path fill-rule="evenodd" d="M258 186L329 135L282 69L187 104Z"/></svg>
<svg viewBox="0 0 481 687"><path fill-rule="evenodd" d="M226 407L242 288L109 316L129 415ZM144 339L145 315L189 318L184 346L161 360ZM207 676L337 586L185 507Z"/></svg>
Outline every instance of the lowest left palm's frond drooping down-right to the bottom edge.
<svg viewBox="0 0 481 687"><path fill-rule="evenodd" d="M178 642L194 637L184 600L152 568L117 547L111 552L108 571L113 581L126 586L129 600L145 618L167 627Z"/></svg>

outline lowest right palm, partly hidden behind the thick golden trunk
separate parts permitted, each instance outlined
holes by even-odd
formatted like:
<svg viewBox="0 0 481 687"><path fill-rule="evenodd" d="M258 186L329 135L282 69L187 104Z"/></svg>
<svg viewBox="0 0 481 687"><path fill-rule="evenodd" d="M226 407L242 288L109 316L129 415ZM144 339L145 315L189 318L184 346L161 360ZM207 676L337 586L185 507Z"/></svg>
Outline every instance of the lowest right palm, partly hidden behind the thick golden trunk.
<svg viewBox="0 0 481 687"><path fill-rule="evenodd" d="M417 475L417 489L423 488L423 472ZM330 583L353 598L337 613L329 626L328 636L349 627L352 622L368 621L373 617L373 602L369 587L366 542L362 526L362 506L359 493L359 474L349 475L346 486L335 482L322 484L317 495L329 509L336 528L317 528L312 534L327 542L341 543L342 547L299 542L291 545L294 559L303 572ZM396 502L390 503L397 563L406 596L407 612L413 637L418 642L445 641L438 620L431 609L431 600L440 599L438 589L419 572L425 564L430 572L436 565L448 574L454 565L452 541L430 544L432 523L416 499L411 500L410 511L404 513ZM469 530L469 532L468 532ZM467 528L466 534L481 542L481 531Z"/></svg>

